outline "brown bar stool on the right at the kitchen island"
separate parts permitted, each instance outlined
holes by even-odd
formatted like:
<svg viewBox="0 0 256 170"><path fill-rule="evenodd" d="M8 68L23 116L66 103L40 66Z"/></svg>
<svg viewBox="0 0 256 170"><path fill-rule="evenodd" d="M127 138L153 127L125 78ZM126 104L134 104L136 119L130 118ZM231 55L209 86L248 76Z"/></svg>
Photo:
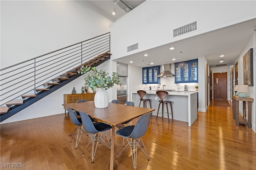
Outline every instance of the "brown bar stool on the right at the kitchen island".
<svg viewBox="0 0 256 170"><path fill-rule="evenodd" d="M169 113L169 111L168 111L168 103L170 103L170 105L171 105L171 111L172 111L172 101L164 100L164 98L168 95L168 92L163 91L163 90L159 90L159 91L156 92L156 94L157 94L157 96L160 98L160 100L159 100L159 106L158 106L158 111L157 111L157 115L156 115L156 119L157 119L157 117L158 117L159 108L160 108L160 105L161 105L161 104L162 104L162 112L160 112L160 113L162 113L162 117L164 117L164 113L166 113L166 112L164 112L164 104L166 104L166 110L167 110L167 115L168 115L168 122L170 122L169 114L172 115L172 112ZM173 119L173 115L172 115L172 119Z"/></svg>

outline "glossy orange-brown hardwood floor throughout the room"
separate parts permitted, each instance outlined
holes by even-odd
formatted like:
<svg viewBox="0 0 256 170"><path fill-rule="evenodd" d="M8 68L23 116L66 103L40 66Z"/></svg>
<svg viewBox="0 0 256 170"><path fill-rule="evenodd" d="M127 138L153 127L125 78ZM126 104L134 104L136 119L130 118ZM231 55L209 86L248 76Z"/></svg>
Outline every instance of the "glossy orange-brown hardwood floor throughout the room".
<svg viewBox="0 0 256 170"><path fill-rule="evenodd" d="M91 147L81 153L85 134L77 149L75 139L69 142L73 129L64 113L0 125L1 170L108 170L110 149L98 145L92 164ZM191 127L182 121L168 123L162 117L156 121L152 116L142 139L150 161L138 150L137 170L256 169L256 134L244 125L235 125L232 106L209 106L206 113L198 112ZM116 136L115 155L121 141ZM12 167L20 164L22 167ZM129 149L115 160L114 169L133 169Z"/></svg>

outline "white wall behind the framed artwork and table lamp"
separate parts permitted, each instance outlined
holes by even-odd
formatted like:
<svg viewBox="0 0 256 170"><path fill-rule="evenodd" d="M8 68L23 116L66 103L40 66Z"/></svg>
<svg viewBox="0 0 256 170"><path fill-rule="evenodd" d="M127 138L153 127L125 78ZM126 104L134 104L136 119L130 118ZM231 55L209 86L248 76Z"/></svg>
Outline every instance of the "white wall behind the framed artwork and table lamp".
<svg viewBox="0 0 256 170"><path fill-rule="evenodd" d="M244 84L244 64L243 59L246 52L253 48L253 84L254 86L249 86L249 93L247 93L247 96L250 96L253 98L252 102L252 129L254 132L256 132L256 54L255 54L255 48L256 48L256 33L252 35L250 41L247 43L247 45L244 47L242 53L238 57L238 85ZM242 111L242 102L239 102L239 113L243 113Z"/></svg>

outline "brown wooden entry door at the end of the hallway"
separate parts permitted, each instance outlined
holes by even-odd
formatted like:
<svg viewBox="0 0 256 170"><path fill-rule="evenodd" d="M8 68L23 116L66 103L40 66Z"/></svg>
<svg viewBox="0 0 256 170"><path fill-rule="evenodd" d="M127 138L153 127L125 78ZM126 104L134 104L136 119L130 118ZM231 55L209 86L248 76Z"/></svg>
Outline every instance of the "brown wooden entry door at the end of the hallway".
<svg viewBox="0 0 256 170"><path fill-rule="evenodd" d="M227 84L227 72L213 73L213 98L219 100L228 99L228 84Z"/></svg>

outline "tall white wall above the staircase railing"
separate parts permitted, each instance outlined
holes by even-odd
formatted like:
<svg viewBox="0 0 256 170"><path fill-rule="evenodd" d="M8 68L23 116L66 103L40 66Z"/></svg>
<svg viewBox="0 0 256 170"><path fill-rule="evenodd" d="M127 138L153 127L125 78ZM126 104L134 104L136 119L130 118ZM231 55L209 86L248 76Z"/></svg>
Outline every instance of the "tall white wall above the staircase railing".
<svg viewBox="0 0 256 170"><path fill-rule="evenodd" d="M109 32L86 1L1 1L1 68Z"/></svg>

